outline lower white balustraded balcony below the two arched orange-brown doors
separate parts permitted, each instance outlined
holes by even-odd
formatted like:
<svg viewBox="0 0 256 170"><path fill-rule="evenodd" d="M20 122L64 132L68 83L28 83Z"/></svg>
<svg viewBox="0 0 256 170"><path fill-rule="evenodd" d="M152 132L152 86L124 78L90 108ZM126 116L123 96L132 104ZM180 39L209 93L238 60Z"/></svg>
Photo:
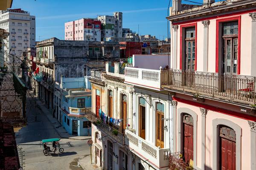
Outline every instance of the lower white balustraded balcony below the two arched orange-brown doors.
<svg viewBox="0 0 256 170"><path fill-rule="evenodd" d="M169 148L161 149L148 143L145 139L137 136L133 129L125 130L125 144L157 167L168 167Z"/></svg>

